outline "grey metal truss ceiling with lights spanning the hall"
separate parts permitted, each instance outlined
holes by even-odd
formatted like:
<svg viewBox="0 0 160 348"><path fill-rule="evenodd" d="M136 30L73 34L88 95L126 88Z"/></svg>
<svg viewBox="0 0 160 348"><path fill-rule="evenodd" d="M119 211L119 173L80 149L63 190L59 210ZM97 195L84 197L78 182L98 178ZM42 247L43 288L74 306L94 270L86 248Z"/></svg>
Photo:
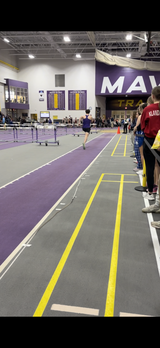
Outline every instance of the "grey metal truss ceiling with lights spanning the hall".
<svg viewBox="0 0 160 348"><path fill-rule="evenodd" d="M127 34L132 35L131 40L126 39ZM19 56L19 59L28 59L28 54L33 54L35 59L59 59L62 56L73 59L76 54L81 54L82 59L94 59L97 48L112 55L125 57L131 54L131 58L160 61L160 32L151 32L149 55L144 34L145 31L50 31L47 34L38 31L0 31L0 50ZM70 38L69 42L64 41L65 36ZM6 48L1 45L4 38L9 40Z"/></svg>

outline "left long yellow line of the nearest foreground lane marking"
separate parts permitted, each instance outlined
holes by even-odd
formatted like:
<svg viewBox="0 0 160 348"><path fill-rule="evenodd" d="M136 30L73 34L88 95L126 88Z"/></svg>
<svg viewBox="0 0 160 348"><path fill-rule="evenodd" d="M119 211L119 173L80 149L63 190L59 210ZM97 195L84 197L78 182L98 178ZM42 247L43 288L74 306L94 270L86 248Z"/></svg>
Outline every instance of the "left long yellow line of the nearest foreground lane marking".
<svg viewBox="0 0 160 348"><path fill-rule="evenodd" d="M95 197L95 194L96 194L96 192L98 190L100 182L103 179L103 176L104 176L104 174L102 174L100 176L100 179L98 180L98 183L97 183L97 185L96 185L96 187L95 187L95 189L94 189L94 191L93 191L93 193L92 193L92 195L91 195L91 197L90 197L90 199L89 199L89 201L88 201L88 203L86 205L85 210L83 211L82 216L80 217L80 220L79 220L79 222L78 222L78 224L77 224L77 226L76 226L76 228L75 228L75 230L74 230L74 232L72 234L72 237L70 238L69 243L68 243L68 245L65 248L65 251L64 251L64 253L63 253L62 257L61 257L61 260L60 260L58 266L56 267L56 269L54 271L54 274L53 274L49 284L47 285L47 288L46 288L46 290L45 290L45 292L44 292L44 294L42 296L41 301L38 304L37 309L35 310L35 313L33 315L34 317L41 317L43 312L44 312L44 310L45 310L45 307L46 307L46 305L47 305L47 303L48 303L48 301L50 299L52 291L53 291L53 289L54 289L54 287L55 287L55 285L57 283L57 280L59 279L59 276L60 276L61 272L62 272L64 264L65 264L66 260L68 259L69 253L70 253L70 251L72 249L72 246L73 246L73 244L75 242L75 239L77 238L77 235L78 235L79 230L80 230L80 228L82 226L82 223L85 220L85 217L86 217L86 215L88 213L90 205L91 205L91 203L92 203L92 201L93 201L93 199Z"/></svg>

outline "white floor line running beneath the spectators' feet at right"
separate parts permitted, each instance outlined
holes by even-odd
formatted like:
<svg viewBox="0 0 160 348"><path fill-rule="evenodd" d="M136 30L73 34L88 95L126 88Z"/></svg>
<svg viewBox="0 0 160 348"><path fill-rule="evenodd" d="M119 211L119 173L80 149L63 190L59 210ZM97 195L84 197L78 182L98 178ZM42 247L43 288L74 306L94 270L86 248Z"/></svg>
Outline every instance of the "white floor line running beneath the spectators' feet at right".
<svg viewBox="0 0 160 348"><path fill-rule="evenodd" d="M140 177L140 182L142 185L142 175L139 175L139 177ZM146 198L144 198L144 203L145 203L145 207L150 206L149 200ZM156 229L153 226L151 226L151 222L154 221L152 213L147 213L147 216L148 216L148 222L149 222L152 242L153 242L153 246L154 246L155 257L157 260L157 266L158 266L158 271L159 271L159 276L160 276L160 245L159 245L159 240L158 240Z"/></svg>

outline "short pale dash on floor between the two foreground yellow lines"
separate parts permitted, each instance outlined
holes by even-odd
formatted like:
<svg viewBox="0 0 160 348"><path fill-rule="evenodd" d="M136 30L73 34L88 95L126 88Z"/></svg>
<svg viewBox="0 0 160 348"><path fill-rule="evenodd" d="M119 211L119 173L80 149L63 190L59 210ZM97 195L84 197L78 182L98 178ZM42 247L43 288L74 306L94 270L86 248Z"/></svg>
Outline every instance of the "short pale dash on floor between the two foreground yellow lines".
<svg viewBox="0 0 160 348"><path fill-rule="evenodd" d="M85 308L85 307L74 307L74 306L64 306L63 304L52 304L51 310L59 310L61 312L70 313L81 313L90 315L99 315L99 309Z"/></svg>

